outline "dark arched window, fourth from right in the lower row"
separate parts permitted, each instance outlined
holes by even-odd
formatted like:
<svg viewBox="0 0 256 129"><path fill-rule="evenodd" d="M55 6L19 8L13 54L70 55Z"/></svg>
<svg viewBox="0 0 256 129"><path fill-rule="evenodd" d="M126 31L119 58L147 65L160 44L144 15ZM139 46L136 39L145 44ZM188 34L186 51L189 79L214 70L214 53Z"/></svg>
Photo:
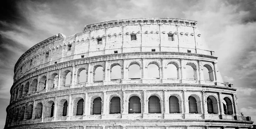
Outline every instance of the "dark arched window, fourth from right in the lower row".
<svg viewBox="0 0 256 129"><path fill-rule="evenodd" d="M175 96L169 97L169 112L170 113L180 113L179 100Z"/></svg>

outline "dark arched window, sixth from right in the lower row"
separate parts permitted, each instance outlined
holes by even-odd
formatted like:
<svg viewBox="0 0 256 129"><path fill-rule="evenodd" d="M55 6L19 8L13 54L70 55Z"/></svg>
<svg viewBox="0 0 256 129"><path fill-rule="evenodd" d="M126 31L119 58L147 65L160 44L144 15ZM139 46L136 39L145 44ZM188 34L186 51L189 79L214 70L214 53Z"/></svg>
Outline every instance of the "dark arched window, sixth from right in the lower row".
<svg viewBox="0 0 256 129"><path fill-rule="evenodd" d="M139 97L132 96L129 99L128 113L141 113L141 103Z"/></svg>

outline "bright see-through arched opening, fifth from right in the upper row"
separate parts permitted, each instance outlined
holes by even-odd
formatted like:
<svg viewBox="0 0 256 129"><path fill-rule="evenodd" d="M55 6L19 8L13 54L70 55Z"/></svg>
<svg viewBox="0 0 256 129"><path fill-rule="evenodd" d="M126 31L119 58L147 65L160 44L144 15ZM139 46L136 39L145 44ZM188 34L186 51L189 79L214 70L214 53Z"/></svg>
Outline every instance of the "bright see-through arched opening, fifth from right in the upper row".
<svg viewBox="0 0 256 129"><path fill-rule="evenodd" d="M128 77L129 79L140 79L141 75L140 75L140 66L135 63L135 64L131 64L128 68Z"/></svg>

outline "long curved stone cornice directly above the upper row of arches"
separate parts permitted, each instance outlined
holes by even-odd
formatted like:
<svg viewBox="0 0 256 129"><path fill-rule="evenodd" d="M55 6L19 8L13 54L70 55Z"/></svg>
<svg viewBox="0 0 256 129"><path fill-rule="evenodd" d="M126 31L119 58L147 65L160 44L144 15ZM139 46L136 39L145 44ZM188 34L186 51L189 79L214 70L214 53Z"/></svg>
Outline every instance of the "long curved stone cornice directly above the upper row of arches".
<svg viewBox="0 0 256 129"><path fill-rule="evenodd" d="M81 61L84 61L85 63L90 63L90 62L93 62L92 59L96 59L96 58L122 57L122 56L125 56L125 55L131 55L131 54L138 54L138 55L143 55L143 54L145 54L145 55L148 55L148 54L183 55L183 56L194 56L194 57L206 57L206 58L210 58L210 59L214 59L214 60L218 59L218 57L212 56L212 55L186 53L186 52L127 52L127 53L117 53L117 54L103 54L103 55L98 55L98 56L84 57L84 58L69 60L69 61L53 64L53 65L50 65L50 66L46 66L44 68L38 69L34 72L31 72L31 73L29 73L27 75L24 75L23 77L19 78L18 80L16 80L13 83L12 88L14 86L16 86L17 82L19 82L20 80L23 80L26 77L29 77L33 74L38 73L38 72L44 72L44 71L47 72L47 70L49 70L49 69L58 68L59 66L62 66L62 65L65 65L66 67L68 67L68 66L73 66L73 65L80 64ZM121 60L121 58L120 58L120 60ZM103 61L103 60L100 60L100 61ZM97 62L97 61L95 61L95 62ZM11 88L10 91L12 91L12 88Z"/></svg>

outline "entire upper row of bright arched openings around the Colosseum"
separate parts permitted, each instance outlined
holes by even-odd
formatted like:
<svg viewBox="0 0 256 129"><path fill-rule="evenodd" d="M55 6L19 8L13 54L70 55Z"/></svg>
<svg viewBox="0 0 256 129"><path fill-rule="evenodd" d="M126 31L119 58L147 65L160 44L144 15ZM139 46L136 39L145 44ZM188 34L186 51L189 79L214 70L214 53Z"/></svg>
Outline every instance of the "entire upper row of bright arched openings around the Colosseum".
<svg viewBox="0 0 256 129"><path fill-rule="evenodd" d="M150 62L146 64L146 75L147 78L151 79L160 79L161 78L161 70L160 64L156 61ZM186 69L185 69L186 68ZM209 64L204 64L202 66L204 80L214 81L213 68ZM112 63L109 68L110 70L110 80L121 80L124 79L123 68L120 63ZM138 61L131 61L126 66L128 77L126 79L142 79L142 66ZM185 73L183 77L188 80L198 80L198 66L195 63L186 63L184 66ZM13 90L13 99L20 98L22 96L26 96L27 94L40 92L44 89L53 89L57 87L69 86L70 84L75 83L86 83L86 82L100 82L105 79L106 73L104 72L103 66L100 64L94 65L91 69L92 72L92 80L88 76L88 69L84 67L79 68L74 73L74 78L72 77L73 72L71 69L67 69L64 72L53 72L49 77L47 75L43 75L42 77L38 77L38 79L33 79L31 84L29 81L26 84L22 84L17 86L16 89ZM164 76L166 79L181 79L180 77L180 65L177 62L169 62L166 64L164 69ZM158 74L151 74L158 73ZM59 75L60 74L60 75ZM163 78L163 77L162 77Z"/></svg>

